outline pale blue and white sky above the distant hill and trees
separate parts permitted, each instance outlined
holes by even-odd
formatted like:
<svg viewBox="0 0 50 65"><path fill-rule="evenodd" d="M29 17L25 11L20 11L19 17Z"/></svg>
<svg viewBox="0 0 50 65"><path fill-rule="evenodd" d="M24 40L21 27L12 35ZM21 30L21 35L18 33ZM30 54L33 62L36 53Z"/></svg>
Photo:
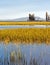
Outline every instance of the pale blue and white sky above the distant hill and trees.
<svg viewBox="0 0 50 65"><path fill-rule="evenodd" d="M50 0L0 0L0 19L28 17L29 13L45 18L50 14Z"/></svg>

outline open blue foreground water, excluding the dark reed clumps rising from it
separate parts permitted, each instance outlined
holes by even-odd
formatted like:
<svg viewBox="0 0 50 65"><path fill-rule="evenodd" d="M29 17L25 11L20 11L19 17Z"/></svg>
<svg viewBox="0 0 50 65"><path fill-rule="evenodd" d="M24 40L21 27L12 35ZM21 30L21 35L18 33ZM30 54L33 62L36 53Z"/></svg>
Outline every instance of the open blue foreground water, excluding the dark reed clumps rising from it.
<svg viewBox="0 0 50 65"><path fill-rule="evenodd" d="M15 45L13 43L5 45L3 42L0 44L0 60L2 60L3 63L0 61L0 65L6 65L4 64L4 58L7 58L10 62L10 53L13 51L17 52L18 50L25 56L28 65L31 57L36 58L38 62L39 59L42 59L41 65L44 65L45 62L47 65L50 65L50 45Z"/></svg>

